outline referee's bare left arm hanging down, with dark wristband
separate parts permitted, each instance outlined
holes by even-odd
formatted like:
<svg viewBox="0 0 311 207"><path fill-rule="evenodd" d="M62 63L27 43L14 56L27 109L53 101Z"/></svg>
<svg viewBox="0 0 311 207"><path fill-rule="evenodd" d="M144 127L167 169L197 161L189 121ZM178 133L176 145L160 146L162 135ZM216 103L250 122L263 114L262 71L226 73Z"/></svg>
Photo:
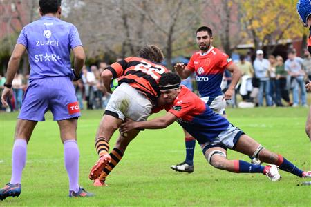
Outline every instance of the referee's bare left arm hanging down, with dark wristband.
<svg viewBox="0 0 311 207"><path fill-rule="evenodd" d="M8 63L8 71L6 74L6 84L12 85L13 78L15 77L15 74L17 70L19 69L19 62L21 61L21 57L23 56L23 53L25 52L26 48L22 44L17 43L15 45L15 48L12 52L12 55L10 57L10 61ZM8 103L6 100L10 97L12 97L12 88L4 87L2 96L1 96L1 102L3 106L8 106Z"/></svg>

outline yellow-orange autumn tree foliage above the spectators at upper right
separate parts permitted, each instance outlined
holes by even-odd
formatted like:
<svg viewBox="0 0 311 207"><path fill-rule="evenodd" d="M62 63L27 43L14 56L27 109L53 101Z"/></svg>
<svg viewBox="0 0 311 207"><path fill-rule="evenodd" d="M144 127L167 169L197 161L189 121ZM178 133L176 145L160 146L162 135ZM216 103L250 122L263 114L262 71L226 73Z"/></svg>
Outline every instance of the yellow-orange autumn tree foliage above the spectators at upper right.
<svg viewBox="0 0 311 207"><path fill-rule="evenodd" d="M244 30L252 39L255 50L266 47L267 54L271 54L276 43L303 36L296 1L244 1L241 14Z"/></svg>

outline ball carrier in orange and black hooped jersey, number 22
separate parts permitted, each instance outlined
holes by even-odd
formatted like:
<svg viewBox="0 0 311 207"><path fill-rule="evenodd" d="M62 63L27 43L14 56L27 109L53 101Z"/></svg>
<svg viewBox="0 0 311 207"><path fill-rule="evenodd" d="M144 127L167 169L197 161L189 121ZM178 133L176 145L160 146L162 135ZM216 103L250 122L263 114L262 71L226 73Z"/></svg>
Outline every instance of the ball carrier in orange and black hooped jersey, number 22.
<svg viewBox="0 0 311 207"><path fill-rule="evenodd" d="M122 159L126 147L137 135L133 130L120 135L115 148L109 153L109 140L126 117L135 121L145 121L157 105L160 95L158 83L160 77L169 72L161 66L164 55L157 46L144 46L139 57L127 57L113 63L102 72L102 80L108 92L111 92L111 79L118 78L119 86L113 91L109 103L100 121L95 137L95 148L100 159L91 169L89 178L94 186L104 186L111 170Z"/></svg>

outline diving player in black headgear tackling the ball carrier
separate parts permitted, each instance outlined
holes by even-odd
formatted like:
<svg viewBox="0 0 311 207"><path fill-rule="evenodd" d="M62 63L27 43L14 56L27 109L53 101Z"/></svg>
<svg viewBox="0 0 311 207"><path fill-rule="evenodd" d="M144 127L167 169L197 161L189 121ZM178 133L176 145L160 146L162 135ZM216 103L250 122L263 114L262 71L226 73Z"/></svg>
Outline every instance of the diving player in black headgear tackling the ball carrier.
<svg viewBox="0 0 311 207"><path fill-rule="evenodd" d="M214 113L207 104L199 99L185 86L180 87L180 78L173 73L167 73L160 78L159 103L164 105L167 114L150 121L126 120L121 124L121 132L133 129L166 128L177 121L187 132L198 140L205 158L215 168L236 173L263 173L271 181L279 181L279 169L298 177L310 177L311 171L304 172L294 166L282 155L277 155L265 149L257 141L245 135L227 121ZM250 164L243 160L227 159L227 149L257 157L267 166Z"/></svg>

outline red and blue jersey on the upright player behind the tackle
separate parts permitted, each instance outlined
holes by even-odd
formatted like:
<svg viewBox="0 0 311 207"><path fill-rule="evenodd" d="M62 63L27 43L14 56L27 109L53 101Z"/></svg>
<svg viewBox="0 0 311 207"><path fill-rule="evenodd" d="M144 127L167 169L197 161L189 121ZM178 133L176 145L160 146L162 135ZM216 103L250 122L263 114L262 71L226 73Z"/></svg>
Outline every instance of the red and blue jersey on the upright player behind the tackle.
<svg viewBox="0 0 311 207"><path fill-rule="evenodd" d="M211 47L205 54L196 52L192 55L187 68L196 72L196 81L201 97L215 98L223 95L220 88L223 72L231 64L232 59L214 47Z"/></svg>

